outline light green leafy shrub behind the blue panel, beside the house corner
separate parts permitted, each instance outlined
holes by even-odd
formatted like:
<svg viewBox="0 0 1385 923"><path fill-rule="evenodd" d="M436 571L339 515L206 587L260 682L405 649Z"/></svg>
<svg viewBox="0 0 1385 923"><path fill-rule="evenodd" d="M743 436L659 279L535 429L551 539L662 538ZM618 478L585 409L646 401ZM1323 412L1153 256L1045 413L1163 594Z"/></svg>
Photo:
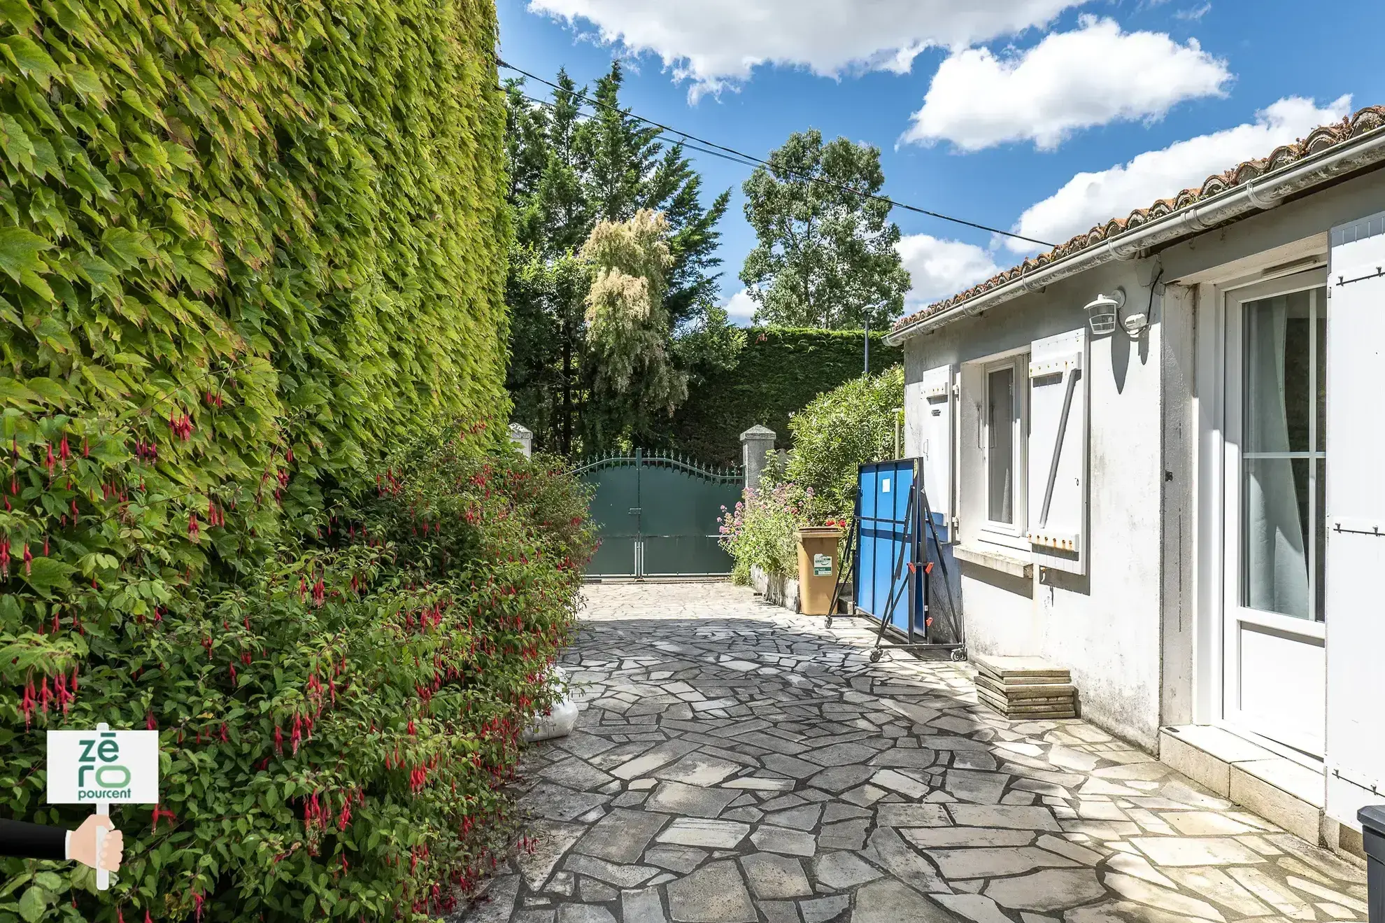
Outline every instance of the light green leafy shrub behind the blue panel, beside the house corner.
<svg viewBox="0 0 1385 923"><path fill-rule="evenodd" d="M810 518L852 514L857 468L895 457L896 412L903 406L904 369L895 366L819 395L794 414L785 477L805 492Z"/></svg>

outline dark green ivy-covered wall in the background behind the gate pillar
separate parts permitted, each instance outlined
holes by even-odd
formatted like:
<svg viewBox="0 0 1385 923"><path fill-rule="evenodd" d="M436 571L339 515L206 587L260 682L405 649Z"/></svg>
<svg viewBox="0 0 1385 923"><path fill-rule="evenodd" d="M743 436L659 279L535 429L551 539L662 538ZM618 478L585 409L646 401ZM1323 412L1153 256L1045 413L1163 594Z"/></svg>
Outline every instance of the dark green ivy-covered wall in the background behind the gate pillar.
<svg viewBox="0 0 1385 923"><path fill-rule="evenodd" d="M870 367L881 371L903 362L903 352L871 334ZM824 391L860 377L864 342L859 330L749 328L730 371L719 371L688 389L672 421L670 441L708 463L740 464L741 434L755 424L778 434L789 448L788 416Z"/></svg>

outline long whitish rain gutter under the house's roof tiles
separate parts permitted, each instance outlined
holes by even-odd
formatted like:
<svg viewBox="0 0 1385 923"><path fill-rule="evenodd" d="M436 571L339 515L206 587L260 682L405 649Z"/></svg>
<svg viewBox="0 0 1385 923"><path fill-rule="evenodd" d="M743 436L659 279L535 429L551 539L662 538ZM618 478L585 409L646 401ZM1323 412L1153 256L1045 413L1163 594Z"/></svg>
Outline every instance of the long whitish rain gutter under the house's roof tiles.
<svg viewBox="0 0 1385 923"><path fill-rule="evenodd" d="M1301 161L1266 173L1258 179L1241 183L1201 202L1194 202L1163 218L1155 219L1134 230L1127 230L1094 247L1079 249L1062 259L1048 263L1032 273L997 288L974 295L936 315L922 317L911 324L892 330L885 342L897 346L911 337L927 333L961 317L974 316L989 308L1004 304L1025 292L1039 291L1060 279L1076 276L1094 266L1111 261L1136 259L1151 247L1199 234L1223 222L1245 216L1251 212L1274 208L1289 195L1345 173L1385 161L1385 128L1373 129L1341 144L1306 157Z"/></svg>

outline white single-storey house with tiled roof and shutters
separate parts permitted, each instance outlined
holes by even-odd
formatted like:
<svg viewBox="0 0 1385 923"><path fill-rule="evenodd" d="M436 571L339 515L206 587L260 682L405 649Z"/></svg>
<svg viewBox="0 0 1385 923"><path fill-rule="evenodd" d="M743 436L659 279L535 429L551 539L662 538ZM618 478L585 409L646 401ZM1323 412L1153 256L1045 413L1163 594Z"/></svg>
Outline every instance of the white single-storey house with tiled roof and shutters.
<svg viewBox="0 0 1385 923"><path fill-rule="evenodd" d="M1071 668L1086 718L1359 850L1385 802L1385 107L886 342L968 646Z"/></svg>

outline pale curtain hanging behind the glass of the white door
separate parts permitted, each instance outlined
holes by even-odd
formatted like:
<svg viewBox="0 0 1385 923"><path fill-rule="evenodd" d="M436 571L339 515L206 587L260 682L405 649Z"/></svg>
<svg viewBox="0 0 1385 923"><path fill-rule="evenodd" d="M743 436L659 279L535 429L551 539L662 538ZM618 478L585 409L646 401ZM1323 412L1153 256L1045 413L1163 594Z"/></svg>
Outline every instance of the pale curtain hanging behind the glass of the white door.
<svg viewBox="0 0 1385 923"><path fill-rule="evenodd" d="M1287 298L1249 305L1245 312L1246 452L1288 452L1284 401ZM1307 381L1291 387L1306 388ZM1306 485L1305 485L1306 488ZM1307 556L1291 459L1245 460L1245 604L1262 611L1312 618Z"/></svg>

